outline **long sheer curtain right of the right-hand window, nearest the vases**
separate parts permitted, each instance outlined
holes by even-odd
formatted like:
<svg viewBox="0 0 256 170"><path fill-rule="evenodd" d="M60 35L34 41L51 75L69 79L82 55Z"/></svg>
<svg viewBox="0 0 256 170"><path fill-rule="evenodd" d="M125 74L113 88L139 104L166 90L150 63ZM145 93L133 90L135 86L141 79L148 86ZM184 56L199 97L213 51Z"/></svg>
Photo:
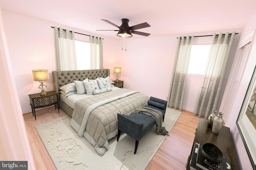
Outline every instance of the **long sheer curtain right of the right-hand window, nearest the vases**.
<svg viewBox="0 0 256 170"><path fill-rule="evenodd" d="M232 32L231 35L229 33L213 35L204 79L196 100L194 116L203 116L204 119L208 119L212 110L218 111L218 104L222 99L221 92L226 86L224 77L229 72L226 68L235 35L235 32Z"/></svg>

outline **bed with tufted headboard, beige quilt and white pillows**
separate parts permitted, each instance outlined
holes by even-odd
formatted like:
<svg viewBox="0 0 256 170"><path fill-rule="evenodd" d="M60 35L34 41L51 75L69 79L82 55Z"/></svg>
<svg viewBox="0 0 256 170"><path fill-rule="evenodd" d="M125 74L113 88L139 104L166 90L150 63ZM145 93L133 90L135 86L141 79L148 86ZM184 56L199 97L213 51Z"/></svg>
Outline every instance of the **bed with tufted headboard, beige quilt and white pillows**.
<svg viewBox="0 0 256 170"><path fill-rule="evenodd" d="M52 72L60 108L72 117L70 125L79 137L85 137L101 156L108 150L108 140L118 133L117 113L130 115L149 100L140 92L114 87L109 76L109 69ZM80 86L74 88L78 82L84 84L85 94Z"/></svg>

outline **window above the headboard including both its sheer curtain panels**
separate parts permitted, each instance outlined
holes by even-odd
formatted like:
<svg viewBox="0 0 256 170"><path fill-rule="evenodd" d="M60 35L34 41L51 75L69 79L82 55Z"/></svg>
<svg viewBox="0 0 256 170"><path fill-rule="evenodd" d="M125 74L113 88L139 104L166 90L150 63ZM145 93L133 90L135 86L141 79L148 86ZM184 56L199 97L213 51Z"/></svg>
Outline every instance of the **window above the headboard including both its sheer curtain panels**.
<svg viewBox="0 0 256 170"><path fill-rule="evenodd" d="M57 70L102 69L103 39L82 33L74 37L74 33L54 27Z"/></svg>

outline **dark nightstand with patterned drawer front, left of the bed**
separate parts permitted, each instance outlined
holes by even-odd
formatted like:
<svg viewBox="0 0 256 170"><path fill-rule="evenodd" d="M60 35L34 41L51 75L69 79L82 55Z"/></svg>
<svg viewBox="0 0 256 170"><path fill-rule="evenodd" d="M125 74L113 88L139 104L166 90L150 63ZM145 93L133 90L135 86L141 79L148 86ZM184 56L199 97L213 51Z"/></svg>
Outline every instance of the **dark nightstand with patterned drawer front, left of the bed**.
<svg viewBox="0 0 256 170"><path fill-rule="evenodd" d="M35 114L35 119L36 119L36 110L37 108L41 107L47 107L54 105L56 109L56 104L58 104L58 112L60 113L59 110L59 98L58 98L58 93L55 91L50 91L47 92L46 95L40 96L40 93L36 94L29 94L29 99L30 99L30 106L32 109L32 114L34 116Z"/></svg>

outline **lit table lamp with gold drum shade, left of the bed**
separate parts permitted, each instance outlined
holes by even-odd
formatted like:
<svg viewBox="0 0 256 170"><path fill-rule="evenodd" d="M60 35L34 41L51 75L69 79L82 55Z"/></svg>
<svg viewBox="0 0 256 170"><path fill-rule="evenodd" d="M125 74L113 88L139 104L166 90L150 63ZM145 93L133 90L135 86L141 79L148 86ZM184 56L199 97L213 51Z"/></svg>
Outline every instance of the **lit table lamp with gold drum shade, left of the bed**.
<svg viewBox="0 0 256 170"><path fill-rule="evenodd" d="M32 75L33 75L33 80L34 81L39 81L40 82L40 85L38 86L38 88L40 88L42 90L40 92L40 95L45 96L47 94L47 92L45 91L45 88L47 86L44 84L44 81L49 80L48 70L45 70L45 69L32 70Z"/></svg>

